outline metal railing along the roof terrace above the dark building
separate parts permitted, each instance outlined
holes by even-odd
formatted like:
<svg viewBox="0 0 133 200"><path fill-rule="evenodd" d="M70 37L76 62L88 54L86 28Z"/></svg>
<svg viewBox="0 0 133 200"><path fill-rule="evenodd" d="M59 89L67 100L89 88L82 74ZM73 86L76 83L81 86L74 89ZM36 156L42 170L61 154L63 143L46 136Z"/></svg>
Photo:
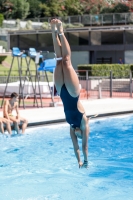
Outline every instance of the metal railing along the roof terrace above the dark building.
<svg viewBox="0 0 133 200"><path fill-rule="evenodd" d="M108 13L98 15L75 15L58 17L65 23L65 28L76 28L83 26L104 26L104 25L131 25L133 24L133 13ZM31 18L20 21L20 27L25 26L27 21L32 21L33 29L50 29L49 25L42 26L43 23L49 23L51 17ZM72 26L73 25L73 26ZM19 29L15 19L4 20L3 28Z"/></svg>

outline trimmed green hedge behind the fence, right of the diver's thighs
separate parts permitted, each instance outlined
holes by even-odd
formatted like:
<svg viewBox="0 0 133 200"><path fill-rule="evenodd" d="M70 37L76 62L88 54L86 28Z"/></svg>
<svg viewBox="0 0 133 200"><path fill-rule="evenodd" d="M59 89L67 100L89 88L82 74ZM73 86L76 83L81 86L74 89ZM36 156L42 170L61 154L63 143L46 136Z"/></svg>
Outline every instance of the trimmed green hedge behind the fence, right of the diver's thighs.
<svg viewBox="0 0 133 200"><path fill-rule="evenodd" d="M133 65L128 64L87 64L78 65L78 70L88 70L89 76L110 76L112 71L113 77L129 77L129 71L133 70ZM79 71L79 75L85 76L86 72Z"/></svg>

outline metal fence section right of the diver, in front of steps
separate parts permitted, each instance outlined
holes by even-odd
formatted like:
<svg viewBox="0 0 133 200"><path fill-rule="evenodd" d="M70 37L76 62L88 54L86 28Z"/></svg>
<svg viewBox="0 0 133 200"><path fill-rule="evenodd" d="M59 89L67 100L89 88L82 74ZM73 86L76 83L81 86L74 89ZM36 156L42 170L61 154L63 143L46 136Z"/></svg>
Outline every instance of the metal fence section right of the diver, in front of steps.
<svg viewBox="0 0 133 200"><path fill-rule="evenodd" d="M80 74L81 71L83 72L83 70L80 70L78 73ZM132 71L128 71L125 77L114 76L113 71L109 71L109 76L95 77L88 76L89 70L84 72L85 75L79 75L79 81L83 89L81 98L133 97Z"/></svg>

